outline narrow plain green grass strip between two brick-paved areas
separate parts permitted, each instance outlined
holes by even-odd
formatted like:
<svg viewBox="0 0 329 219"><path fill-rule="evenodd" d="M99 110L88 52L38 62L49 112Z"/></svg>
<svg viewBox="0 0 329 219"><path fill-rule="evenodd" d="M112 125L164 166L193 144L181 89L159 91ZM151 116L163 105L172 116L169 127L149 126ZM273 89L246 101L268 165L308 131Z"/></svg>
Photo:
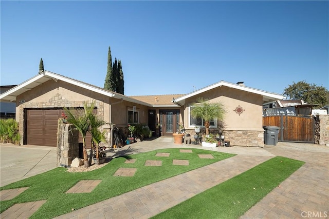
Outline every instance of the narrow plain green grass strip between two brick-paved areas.
<svg viewBox="0 0 329 219"><path fill-rule="evenodd" d="M239 218L303 164L273 157L152 218Z"/></svg>

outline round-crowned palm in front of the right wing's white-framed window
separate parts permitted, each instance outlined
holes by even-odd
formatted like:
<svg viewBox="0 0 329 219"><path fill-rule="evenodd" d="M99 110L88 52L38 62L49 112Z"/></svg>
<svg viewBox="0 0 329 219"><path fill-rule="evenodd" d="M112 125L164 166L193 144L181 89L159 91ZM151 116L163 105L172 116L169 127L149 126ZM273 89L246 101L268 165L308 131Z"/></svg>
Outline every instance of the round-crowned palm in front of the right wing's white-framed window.
<svg viewBox="0 0 329 219"><path fill-rule="evenodd" d="M209 126L211 120L223 121L226 113L224 104L222 102L210 103L209 99L199 97L196 99L197 103L191 106L191 115L193 118L202 118L206 128L206 135L209 134Z"/></svg>

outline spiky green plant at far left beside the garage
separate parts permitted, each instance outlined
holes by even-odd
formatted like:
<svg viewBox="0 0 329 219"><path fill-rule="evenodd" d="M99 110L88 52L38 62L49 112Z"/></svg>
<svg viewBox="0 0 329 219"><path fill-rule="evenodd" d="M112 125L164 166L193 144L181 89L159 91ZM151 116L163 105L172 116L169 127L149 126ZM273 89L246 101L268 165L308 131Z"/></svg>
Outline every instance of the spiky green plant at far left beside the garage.
<svg viewBox="0 0 329 219"><path fill-rule="evenodd" d="M0 142L20 144L19 124L13 119L0 120Z"/></svg>

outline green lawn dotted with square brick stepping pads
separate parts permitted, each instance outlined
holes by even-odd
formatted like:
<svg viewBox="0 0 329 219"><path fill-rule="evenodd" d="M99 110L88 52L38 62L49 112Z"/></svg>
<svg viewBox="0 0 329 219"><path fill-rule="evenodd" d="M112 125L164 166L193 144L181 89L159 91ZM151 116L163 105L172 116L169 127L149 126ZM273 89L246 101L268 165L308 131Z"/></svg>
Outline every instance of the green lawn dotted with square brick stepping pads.
<svg viewBox="0 0 329 219"><path fill-rule="evenodd" d="M180 153L179 148L175 148L134 154L131 155L132 158L137 159L134 164L125 164L125 158L119 157L104 167L90 172L70 173L65 168L56 168L1 187L1 190L29 187L12 200L1 202L1 212L16 203L47 200L31 218L52 218L71 212L72 208L79 209L92 205L142 186L234 156L234 154L202 149L192 149L192 151L193 153ZM158 157L155 156L157 152L168 152L170 156ZM197 154L212 154L214 159L200 159ZM172 165L173 159L189 160L189 166L174 166ZM146 160L161 160L162 166L144 166ZM137 171L133 177L113 176L120 167L137 168ZM91 193L65 194L68 189L81 180L102 180L102 182Z"/></svg>

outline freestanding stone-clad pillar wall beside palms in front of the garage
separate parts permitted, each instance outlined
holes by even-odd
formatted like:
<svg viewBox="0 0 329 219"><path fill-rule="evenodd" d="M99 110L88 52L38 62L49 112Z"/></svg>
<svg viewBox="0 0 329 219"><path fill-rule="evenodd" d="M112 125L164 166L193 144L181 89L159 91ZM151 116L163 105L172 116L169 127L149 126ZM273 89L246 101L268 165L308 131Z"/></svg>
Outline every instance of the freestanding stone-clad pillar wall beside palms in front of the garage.
<svg viewBox="0 0 329 219"><path fill-rule="evenodd" d="M64 124L59 120L57 133L57 166L69 166L74 158L79 157L79 131L74 125Z"/></svg>

